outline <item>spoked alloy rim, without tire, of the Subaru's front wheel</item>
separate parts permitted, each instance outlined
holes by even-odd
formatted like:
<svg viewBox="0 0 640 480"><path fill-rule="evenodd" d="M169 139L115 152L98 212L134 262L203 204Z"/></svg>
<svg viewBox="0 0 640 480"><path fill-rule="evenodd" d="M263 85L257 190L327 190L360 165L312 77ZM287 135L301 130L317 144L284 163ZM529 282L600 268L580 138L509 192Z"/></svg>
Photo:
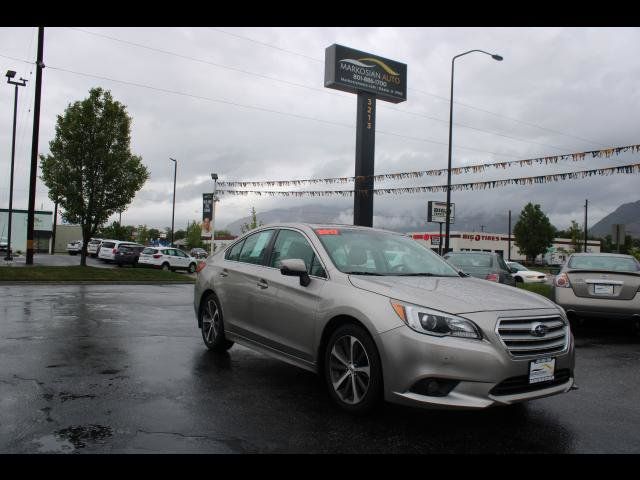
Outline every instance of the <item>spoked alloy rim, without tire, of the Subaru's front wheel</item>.
<svg viewBox="0 0 640 480"><path fill-rule="evenodd" d="M363 400L371 383L371 364L360 340L352 335L336 340L331 349L329 374L340 400L349 405Z"/></svg>

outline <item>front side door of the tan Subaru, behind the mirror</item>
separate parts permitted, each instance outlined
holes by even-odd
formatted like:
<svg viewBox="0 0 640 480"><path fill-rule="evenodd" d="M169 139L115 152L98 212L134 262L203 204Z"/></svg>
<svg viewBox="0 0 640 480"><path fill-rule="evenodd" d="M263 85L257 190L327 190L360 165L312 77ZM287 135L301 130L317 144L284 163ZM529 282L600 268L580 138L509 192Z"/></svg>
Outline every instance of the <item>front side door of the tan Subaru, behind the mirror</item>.
<svg viewBox="0 0 640 480"><path fill-rule="evenodd" d="M282 275L280 262L299 258L305 262L311 283L300 285L299 277ZM315 357L314 332L326 272L307 237L294 229L277 233L268 264L261 268L251 330L258 341L309 362Z"/></svg>

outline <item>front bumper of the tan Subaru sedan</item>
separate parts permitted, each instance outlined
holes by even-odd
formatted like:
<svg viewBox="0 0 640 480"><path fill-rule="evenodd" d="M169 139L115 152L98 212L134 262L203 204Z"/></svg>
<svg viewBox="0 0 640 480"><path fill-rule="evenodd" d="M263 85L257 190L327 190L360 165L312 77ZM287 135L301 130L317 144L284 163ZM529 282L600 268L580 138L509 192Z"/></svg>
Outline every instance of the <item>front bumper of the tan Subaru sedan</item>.
<svg viewBox="0 0 640 480"><path fill-rule="evenodd" d="M495 312L493 314L495 318ZM555 383L526 384L521 391L516 388L508 394L492 393L494 389L500 390L496 387L505 380L524 377L527 382L533 358L512 358L488 328L483 328L483 333L483 340L440 338L401 326L381 334L385 399L420 407L480 409L547 397L567 392L573 386L574 345L570 335L564 353L548 355L556 359L555 372L559 380ZM423 379L458 383L444 396L412 391Z"/></svg>

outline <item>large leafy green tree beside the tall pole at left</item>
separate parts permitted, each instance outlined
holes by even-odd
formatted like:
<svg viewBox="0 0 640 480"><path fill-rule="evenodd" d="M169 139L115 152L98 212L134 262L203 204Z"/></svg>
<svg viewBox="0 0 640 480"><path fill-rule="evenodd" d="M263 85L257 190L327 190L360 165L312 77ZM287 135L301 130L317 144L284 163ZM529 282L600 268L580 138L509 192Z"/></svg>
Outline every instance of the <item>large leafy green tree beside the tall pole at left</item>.
<svg viewBox="0 0 640 480"><path fill-rule="evenodd" d="M89 239L111 215L126 210L149 178L130 143L126 107L113 100L111 92L93 88L89 97L58 115L50 153L40 156L49 198L58 200L65 221L82 227L83 266Z"/></svg>

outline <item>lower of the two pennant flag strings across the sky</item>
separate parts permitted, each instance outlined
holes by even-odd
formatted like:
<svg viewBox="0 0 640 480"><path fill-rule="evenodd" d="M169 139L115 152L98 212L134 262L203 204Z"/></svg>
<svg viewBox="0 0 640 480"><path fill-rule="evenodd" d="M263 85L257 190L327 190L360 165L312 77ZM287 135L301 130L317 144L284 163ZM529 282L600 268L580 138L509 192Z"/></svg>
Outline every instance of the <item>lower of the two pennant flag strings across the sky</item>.
<svg viewBox="0 0 640 480"><path fill-rule="evenodd" d="M550 182L560 182L564 180L577 180L587 177L632 174L640 172L640 163L621 165L618 167L595 168L592 170L579 170L576 172L554 173L550 175L539 175L534 177L505 178L502 180L487 180L483 182L455 183L451 185L451 191L462 190L486 190L500 188L507 185L532 185ZM300 191L280 191L280 190L218 190L220 195L258 195L258 196L283 196L283 197L352 197L356 195L402 195L408 193L424 192L446 192L446 185L429 185L419 187L404 188L379 188L373 190L300 190Z"/></svg>

